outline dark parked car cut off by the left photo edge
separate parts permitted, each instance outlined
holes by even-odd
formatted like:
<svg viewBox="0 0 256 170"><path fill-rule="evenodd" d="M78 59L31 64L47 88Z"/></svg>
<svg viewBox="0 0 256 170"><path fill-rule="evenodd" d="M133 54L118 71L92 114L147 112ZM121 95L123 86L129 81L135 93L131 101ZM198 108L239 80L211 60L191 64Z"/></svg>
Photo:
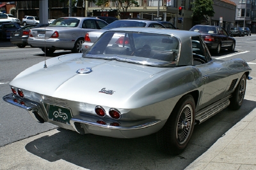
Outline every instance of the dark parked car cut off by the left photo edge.
<svg viewBox="0 0 256 170"><path fill-rule="evenodd" d="M20 25L17 23L2 23L0 24L0 39L10 39L10 32L20 29Z"/></svg>

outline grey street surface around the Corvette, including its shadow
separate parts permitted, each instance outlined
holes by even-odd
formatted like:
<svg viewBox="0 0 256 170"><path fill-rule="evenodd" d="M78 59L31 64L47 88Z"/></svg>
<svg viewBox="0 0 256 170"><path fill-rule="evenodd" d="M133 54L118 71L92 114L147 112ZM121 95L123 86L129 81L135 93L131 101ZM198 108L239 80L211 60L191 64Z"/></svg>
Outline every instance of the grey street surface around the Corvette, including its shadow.
<svg viewBox="0 0 256 170"><path fill-rule="evenodd" d="M236 39L235 53L223 52L213 57L239 57L254 63L252 42L256 36ZM7 43L0 42L0 96L10 93L8 82L17 74L49 58L36 48L1 48ZM63 53L66 52L56 52L52 57ZM252 75L256 80L255 69ZM248 81L246 96L250 97L240 110L225 109L196 125L188 148L175 157L159 152L154 134L134 139L82 136L48 123L39 124L27 111L0 99L0 169L184 169L255 108L254 89L254 80Z"/></svg>

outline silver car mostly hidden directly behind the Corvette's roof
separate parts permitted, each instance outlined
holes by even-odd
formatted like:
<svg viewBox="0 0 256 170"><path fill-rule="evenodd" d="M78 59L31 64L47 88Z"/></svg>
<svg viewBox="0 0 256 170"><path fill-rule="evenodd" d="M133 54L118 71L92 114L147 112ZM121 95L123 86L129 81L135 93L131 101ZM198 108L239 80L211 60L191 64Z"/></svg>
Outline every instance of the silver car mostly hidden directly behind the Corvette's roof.
<svg viewBox="0 0 256 170"><path fill-rule="evenodd" d="M119 27L153 27L153 28L166 28L163 24L160 24L157 21L152 20L136 20L136 19L127 19L127 20L116 20L106 27L98 30L88 32L84 37L84 43L82 45L83 51L86 52L90 46L93 45L95 41L100 37L100 35L108 31L109 29L119 28Z"/></svg>

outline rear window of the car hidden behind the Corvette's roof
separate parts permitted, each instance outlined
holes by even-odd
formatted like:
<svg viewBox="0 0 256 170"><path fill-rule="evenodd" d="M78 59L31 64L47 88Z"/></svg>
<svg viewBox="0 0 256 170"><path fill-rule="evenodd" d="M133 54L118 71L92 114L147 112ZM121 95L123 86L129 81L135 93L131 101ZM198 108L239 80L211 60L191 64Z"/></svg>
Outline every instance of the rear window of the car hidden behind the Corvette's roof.
<svg viewBox="0 0 256 170"><path fill-rule="evenodd" d="M147 24L145 22L140 22L140 21L116 20L111 24L106 25L106 27L103 27L102 29L113 29L113 28L119 28L119 27L145 27L146 25Z"/></svg>

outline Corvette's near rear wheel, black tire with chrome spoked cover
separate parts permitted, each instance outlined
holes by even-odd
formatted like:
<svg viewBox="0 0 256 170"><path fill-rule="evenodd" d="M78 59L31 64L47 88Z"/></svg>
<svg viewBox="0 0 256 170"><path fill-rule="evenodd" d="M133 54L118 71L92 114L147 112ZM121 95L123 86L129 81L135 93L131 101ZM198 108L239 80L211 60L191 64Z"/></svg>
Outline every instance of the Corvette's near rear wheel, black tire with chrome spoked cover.
<svg viewBox="0 0 256 170"><path fill-rule="evenodd" d="M195 101L191 95L182 97L164 127L157 132L157 145L169 155L179 155L189 143L195 125Z"/></svg>

